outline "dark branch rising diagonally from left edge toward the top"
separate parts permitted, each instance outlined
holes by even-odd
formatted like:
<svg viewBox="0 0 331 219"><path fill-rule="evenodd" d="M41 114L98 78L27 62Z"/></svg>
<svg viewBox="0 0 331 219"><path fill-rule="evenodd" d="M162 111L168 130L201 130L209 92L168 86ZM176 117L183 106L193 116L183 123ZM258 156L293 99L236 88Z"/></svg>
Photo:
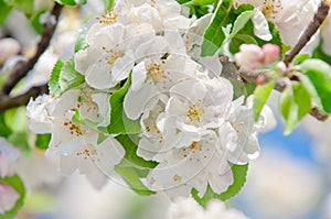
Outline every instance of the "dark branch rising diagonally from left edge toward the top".
<svg viewBox="0 0 331 219"><path fill-rule="evenodd" d="M34 56L28 61L18 62L9 74L7 80L4 81L1 92L0 99L7 98L9 96L13 87L28 75L29 70L33 68L40 56L45 52L49 47L52 36L54 34L55 28L57 25L58 17L61 13L63 6L55 2L54 8L51 11L51 15L55 18L55 22L46 22L44 24L44 30L42 32L42 36L40 42L38 43L38 50ZM2 101L2 100L1 100Z"/></svg>

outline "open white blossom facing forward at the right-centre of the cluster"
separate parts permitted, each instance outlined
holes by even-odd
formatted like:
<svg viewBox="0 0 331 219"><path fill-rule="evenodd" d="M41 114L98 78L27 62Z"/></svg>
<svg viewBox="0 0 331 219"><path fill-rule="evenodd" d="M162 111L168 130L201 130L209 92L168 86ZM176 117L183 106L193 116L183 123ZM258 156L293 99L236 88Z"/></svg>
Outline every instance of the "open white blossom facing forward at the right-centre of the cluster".
<svg viewBox="0 0 331 219"><path fill-rule="evenodd" d="M170 99L163 114L166 121L168 117L175 118L175 122L168 125L173 130L166 131L181 135L173 146L199 141L204 130L221 127L232 98L232 85L224 78L189 78L174 85L170 89Z"/></svg>

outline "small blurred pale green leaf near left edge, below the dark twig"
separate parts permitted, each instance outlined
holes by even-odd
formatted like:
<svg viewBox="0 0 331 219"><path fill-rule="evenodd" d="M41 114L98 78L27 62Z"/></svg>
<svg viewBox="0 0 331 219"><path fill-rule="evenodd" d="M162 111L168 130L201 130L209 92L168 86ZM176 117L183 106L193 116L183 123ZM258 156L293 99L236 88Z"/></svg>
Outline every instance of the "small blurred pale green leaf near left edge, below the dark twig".
<svg viewBox="0 0 331 219"><path fill-rule="evenodd" d="M25 107L7 110L4 112L4 122L14 132L25 132L28 124Z"/></svg>

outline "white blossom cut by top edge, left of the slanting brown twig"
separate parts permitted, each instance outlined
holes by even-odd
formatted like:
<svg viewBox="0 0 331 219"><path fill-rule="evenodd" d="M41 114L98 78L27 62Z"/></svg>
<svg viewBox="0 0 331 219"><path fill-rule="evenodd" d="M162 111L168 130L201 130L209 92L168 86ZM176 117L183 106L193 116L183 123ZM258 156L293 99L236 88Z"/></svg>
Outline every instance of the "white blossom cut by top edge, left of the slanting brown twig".
<svg viewBox="0 0 331 219"><path fill-rule="evenodd" d="M273 22L279 30L286 45L293 46L308 24L320 0L235 0L235 6L249 3L256 7L252 18L254 32L265 41L271 40L267 21Z"/></svg>

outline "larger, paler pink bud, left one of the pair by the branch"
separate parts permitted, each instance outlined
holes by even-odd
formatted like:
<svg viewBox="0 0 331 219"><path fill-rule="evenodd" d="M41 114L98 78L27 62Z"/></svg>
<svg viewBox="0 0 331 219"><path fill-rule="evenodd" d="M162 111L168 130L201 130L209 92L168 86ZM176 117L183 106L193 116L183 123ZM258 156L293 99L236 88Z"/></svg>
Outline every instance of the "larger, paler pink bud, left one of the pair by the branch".
<svg viewBox="0 0 331 219"><path fill-rule="evenodd" d="M255 44L242 44L241 52L234 55L236 64L249 69L257 68L264 59L263 50Z"/></svg>

